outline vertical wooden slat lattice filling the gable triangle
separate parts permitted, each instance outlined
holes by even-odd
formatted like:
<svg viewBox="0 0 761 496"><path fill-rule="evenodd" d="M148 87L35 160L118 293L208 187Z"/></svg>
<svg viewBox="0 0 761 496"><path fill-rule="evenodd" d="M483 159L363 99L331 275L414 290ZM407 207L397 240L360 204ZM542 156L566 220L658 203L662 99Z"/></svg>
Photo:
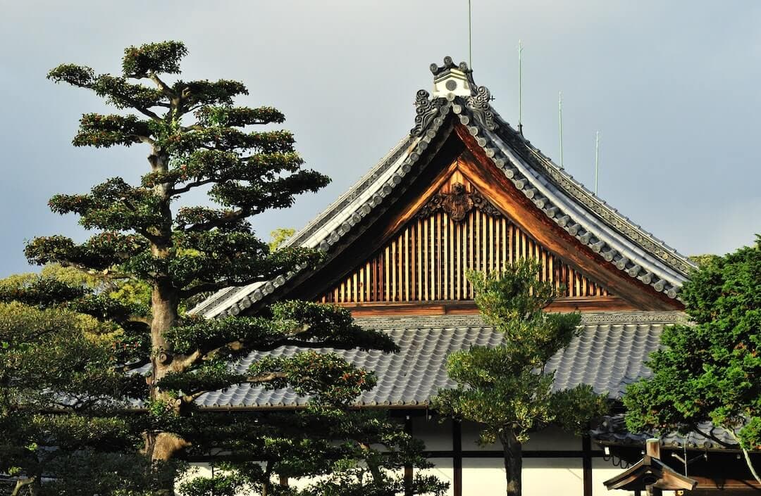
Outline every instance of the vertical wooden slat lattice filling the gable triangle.
<svg viewBox="0 0 761 496"><path fill-rule="evenodd" d="M470 185L468 185L470 186ZM467 188L470 191L470 187ZM501 270L534 258L541 280L567 298L607 296L607 289L573 270L504 216L470 210L460 222L442 210L417 217L368 261L320 299L332 303L472 300L466 270Z"/></svg>

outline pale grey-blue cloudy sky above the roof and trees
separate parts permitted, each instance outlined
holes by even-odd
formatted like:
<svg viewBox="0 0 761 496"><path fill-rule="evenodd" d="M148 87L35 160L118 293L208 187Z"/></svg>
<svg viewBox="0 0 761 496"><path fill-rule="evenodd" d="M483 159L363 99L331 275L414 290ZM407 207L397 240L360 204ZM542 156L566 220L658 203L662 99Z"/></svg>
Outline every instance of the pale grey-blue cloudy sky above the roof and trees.
<svg viewBox="0 0 761 496"><path fill-rule="evenodd" d="M683 254L724 254L761 232L761 2L472 0L472 67L492 106L594 184L599 195ZM148 150L72 147L79 116L107 112L53 84L64 62L118 72L123 49L166 39L189 48L183 79L237 79L247 106L286 115L307 166L333 182L253 226L301 228L413 125L431 62L468 59L466 0L107 2L0 0L0 276L35 270L27 240L84 241L46 202L106 178L147 172ZM203 201L198 197L197 201Z"/></svg>

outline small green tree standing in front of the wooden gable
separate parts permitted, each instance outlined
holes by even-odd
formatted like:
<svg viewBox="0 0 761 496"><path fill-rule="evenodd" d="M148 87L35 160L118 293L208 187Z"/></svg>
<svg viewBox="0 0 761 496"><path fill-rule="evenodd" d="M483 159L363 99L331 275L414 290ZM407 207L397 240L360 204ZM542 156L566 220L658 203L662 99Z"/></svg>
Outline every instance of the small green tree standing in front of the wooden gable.
<svg viewBox="0 0 761 496"><path fill-rule="evenodd" d="M538 273L537 262L521 260L503 273L468 274L484 321L505 339L496 348L449 355L447 373L457 388L440 390L433 403L442 415L482 424L479 443L501 443L508 496L521 494L522 444L531 431L554 424L581 433L607 411L605 396L585 384L552 390L555 373L546 362L578 336L581 316L544 312L556 290Z"/></svg>

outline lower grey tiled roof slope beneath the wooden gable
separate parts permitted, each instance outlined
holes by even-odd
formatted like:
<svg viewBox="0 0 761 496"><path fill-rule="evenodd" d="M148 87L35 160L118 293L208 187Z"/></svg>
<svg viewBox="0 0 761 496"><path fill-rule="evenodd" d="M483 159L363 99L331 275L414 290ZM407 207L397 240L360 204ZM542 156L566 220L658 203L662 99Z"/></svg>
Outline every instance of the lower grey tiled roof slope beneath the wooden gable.
<svg viewBox="0 0 761 496"><path fill-rule="evenodd" d="M590 384L597 393L619 398L627 384L647 376L643 365L658 349L664 325L682 321L681 312L620 312L583 314L581 336L549 360L547 370L556 371L556 390ZM447 378L447 355L470 346L498 346L503 336L477 316L444 315L416 318L358 318L363 327L388 333L400 346L396 354L356 349L337 351L359 367L374 371L377 386L365 392L357 406L425 407L441 387L454 387ZM294 346L272 352L252 352L237 371L263 355L293 355ZM323 352L333 351L323 349ZM221 408L293 408L307 398L292 390L265 390L241 384L224 391L205 393L197 402Z"/></svg>

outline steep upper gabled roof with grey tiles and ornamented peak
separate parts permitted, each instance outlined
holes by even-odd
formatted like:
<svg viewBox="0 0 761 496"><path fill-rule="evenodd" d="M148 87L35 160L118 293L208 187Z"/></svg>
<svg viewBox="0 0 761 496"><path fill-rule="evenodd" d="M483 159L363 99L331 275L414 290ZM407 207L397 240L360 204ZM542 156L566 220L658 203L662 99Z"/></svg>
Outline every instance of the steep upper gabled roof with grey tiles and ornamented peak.
<svg viewBox="0 0 761 496"><path fill-rule="evenodd" d="M464 92L458 88L457 94L444 93L442 74L453 69L465 74L469 84ZM319 248L335 255L342 239L354 232L366 216L387 208L385 199L406 187L406 176L414 176L417 169L425 166L422 156L426 150L441 146L452 128L460 125L517 190L591 253L599 254L629 278L671 299L677 297L695 267L692 262L610 207L533 147L492 109L491 93L486 87L476 87L464 63L454 65L447 57L443 67L432 65L431 71L436 78L435 95L431 97L425 90L417 93L415 127L409 136L289 239L288 245ZM194 311L208 318L238 314L293 276L295 273L267 283L224 289Z"/></svg>

